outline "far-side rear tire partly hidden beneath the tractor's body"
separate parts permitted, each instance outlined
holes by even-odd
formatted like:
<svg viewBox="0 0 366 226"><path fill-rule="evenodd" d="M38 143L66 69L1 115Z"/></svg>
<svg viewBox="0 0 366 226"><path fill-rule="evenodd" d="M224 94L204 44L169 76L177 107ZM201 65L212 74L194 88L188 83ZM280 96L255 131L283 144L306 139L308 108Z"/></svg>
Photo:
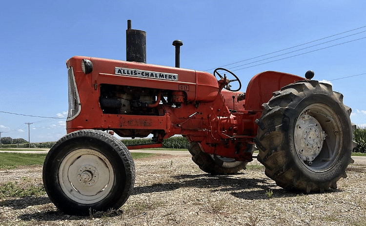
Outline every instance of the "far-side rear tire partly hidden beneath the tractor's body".
<svg viewBox="0 0 366 226"><path fill-rule="evenodd" d="M245 169L246 164L248 164L248 162L205 153L198 143L191 143L188 150L192 154L193 162L204 172L213 175L236 174ZM254 149L251 148L250 151L253 154Z"/></svg>

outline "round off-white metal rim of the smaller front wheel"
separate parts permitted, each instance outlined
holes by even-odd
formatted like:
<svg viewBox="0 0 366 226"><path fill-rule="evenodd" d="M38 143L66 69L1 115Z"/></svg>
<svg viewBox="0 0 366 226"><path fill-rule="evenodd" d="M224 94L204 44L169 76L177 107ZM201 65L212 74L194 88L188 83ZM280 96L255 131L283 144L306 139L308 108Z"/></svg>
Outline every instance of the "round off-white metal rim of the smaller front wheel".
<svg viewBox="0 0 366 226"><path fill-rule="evenodd" d="M99 151L81 148L63 158L59 181L67 197L80 204L94 204L110 193L114 183L110 161Z"/></svg>

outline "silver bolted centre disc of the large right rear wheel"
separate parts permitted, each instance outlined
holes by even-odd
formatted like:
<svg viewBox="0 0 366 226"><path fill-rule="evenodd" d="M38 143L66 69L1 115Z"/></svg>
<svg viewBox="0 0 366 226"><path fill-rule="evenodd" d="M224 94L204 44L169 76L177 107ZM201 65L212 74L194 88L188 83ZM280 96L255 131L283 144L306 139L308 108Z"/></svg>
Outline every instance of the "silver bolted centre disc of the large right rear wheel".
<svg viewBox="0 0 366 226"><path fill-rule="evenodd" d="M300 115L294 131L295 149L300 159L307 165L311 165L319 155L325 137L325 131L314 117L307 112Z"/></svg>

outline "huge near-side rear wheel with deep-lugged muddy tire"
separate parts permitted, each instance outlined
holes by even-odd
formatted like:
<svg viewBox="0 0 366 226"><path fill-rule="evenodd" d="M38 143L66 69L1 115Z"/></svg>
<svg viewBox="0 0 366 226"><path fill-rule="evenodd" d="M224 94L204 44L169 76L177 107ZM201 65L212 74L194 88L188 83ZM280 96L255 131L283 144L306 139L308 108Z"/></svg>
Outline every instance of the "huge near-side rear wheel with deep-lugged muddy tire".
<svg viewBox="0 0 366 226"><path fill-rule="evenodd" d="M343 95L330 84L302 81L276 91L263 106L255 141L265 174L286 189L337 188L357 145Z"/></svg>

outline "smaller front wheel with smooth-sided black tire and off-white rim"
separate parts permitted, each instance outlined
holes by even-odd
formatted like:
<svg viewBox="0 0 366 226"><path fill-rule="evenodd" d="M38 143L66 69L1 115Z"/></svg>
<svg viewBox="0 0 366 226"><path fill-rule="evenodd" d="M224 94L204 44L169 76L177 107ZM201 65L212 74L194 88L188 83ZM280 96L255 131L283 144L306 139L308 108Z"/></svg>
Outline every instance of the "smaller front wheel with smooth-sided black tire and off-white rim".
<svg viewBox="0 0 366 226"><path fill-rule="evenodd" d="M47 195L67 214L118 209L134 183L135 165L126 146L98 130L78 130L62 137L43 164Z"/></svg>

